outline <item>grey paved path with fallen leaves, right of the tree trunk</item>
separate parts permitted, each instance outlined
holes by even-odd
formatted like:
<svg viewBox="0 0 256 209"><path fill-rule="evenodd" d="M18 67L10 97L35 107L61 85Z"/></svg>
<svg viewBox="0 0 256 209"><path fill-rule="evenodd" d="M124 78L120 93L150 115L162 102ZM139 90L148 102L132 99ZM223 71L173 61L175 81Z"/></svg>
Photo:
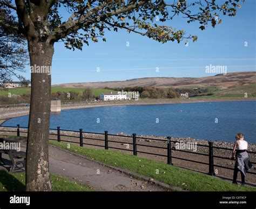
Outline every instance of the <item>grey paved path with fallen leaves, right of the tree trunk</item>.
<svg viewBox="0 0 256 209"><path fill-rule="evenodd" d="M68 179L89 185L95 191L164 191L95 161L49 147L50 171Z"/></svg>

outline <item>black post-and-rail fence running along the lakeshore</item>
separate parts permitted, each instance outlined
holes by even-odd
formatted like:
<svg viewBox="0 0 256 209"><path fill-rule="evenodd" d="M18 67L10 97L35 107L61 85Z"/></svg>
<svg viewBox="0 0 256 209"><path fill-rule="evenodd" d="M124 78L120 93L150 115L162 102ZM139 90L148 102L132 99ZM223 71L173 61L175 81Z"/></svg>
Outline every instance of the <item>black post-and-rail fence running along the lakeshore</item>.
<svg viewBox="0 0 256 209"><path fill-rule="evenodd" d="M23 129L28 129L28 127L20 127L19 124L17 125L17 127L14 126L0 126L0 128L17 128L17 130L0 130L0 132L12 132L12 133L17 133L17 136L21 136L21 133L26 133L27 131L22 131L21 128ZM192 163L199 163L199 164L204 164L204 165L208 165L208 175L211 176L215 176L215 172L214 172L214 167L217 168L223 168L223 169L228 169L228 170L233 170L232 168L227 168L225 166L221 166L221 165L217 165L214 164L214 159L215 158L219 158L219 159L225 159L225 160L232 160L231 158L228 157L224 157L224 156L216 156L214 155L213 149L222 149L222 150L229 150L231 151L231 148L225 148L225 147L216 147L214 146L214 142L208 141L208 145L204 145L204 144L198 144L197 146L199 147L205 147L205 149L208 149L208 154L204 154L204 153L200 153L200 152L193 152L193 151L187 151L187 150L180 150L180 149L174 149L173 147L171 147L171 143L179 143L179 141L175 141L172 140L172 138L169 136L167 137L167 147L158 147L158 146L153 146L153 145L145 145L145 144L138 144L137 141L138 140L148 140L148 141L161 141L161 142L166 142L166 140L160 140L160 139L156 139L156 138L147 138L147 137L138 137L136 134L132 134L132 135L128 135L128 136L124 136L124 135L114 135L114 134L109 134L108 131L104 131L104 133L93 133L93 132L87 132L87 131L83 131L83 129L79 129L78 131L75 130L65 130L65 129L60 129L60 127L57 127L57 129L50 129L50 130L55 130L56 134L50 133L51 136L57 136L56 138L49 138L49 140L55 140L58 142L69 142L69 143L76 143L79 144L80 147L83 147L84 145L91 145L91 146L96 146L96 147L102 147L104 149L117 149L117 150L125 150L125 151L131 151L133 153L133 155L136 155L138 153L142 153L142 154L148 154L148 155L154 155L154 156L161 156L161 157L166 157L166 162L167 164L173 165L172 163L172 159L180 159L181 161L188 161L188 162L192 162ZM72 136L72 135L63 135L61 133L61 131L69 131L72 133L76 133L78 134L78 136ZM96 135L102 135L102 138L91 138L91 137L84 137L83 134L96 134ZM123 148L118 148L118 147L110 147L109 146L109 142L112 143L124 143L124 142L120 142L120 141L113 141L113 140L109 140L109 136L116 136L116 137L126 137L126 138L131 138L131 143L129 142L125 142L125 144L130 144L132 145L132 149L123 149ZM67 141L67 140L62 140L62 137L71 137L71 138L77 138L79 139L78 142L75 141ZM87 140L92 140L92 141L101 141L103 142L102 145L96 144L96 143L87 143ZM161 155L161 154L157 154L157 153L152 153L152 152L146 152L146 151L142 151L142 150L138 150L138 147L148 147L148 148L156 148L156 149L164 149L167 150L166 151L166 155ZM207 156L208 158L208 162L200 162L200 161L194 161L192 159L185 159L185 158L180 158L180 157L174 157L172 156L172 150L175 151L179 151L179 152L186 152L189 154L194 154L194 155L201 155L201 156ZM254 151L247 151L248 153L255 155L256 152ZM252 162L254 165L256 164L256 162ZM255 172L247 172L250 173L252 175L256 175Z"/></svg>

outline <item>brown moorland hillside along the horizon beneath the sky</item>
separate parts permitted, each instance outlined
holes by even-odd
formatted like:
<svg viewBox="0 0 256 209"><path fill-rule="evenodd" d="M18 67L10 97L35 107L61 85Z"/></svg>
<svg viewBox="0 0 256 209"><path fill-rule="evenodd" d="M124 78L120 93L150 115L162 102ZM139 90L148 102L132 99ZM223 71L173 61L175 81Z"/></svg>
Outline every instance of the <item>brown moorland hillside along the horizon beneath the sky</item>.
<svg viewBox="0 0 256 209"><path fill-rule="evenodd" d="M139 78L130 79L125 81L108 81L108 82L84 82L84 83L64 83L59 85L53 85L55 87L67 87L67 88L122 88L130 86L153 86L162 88L180 88L180 87L208 87L215 86L220 89L244 86L248 84L256 83L256 72L238 72L227 73L226 75L214 75L204 78Z"/></svg>

